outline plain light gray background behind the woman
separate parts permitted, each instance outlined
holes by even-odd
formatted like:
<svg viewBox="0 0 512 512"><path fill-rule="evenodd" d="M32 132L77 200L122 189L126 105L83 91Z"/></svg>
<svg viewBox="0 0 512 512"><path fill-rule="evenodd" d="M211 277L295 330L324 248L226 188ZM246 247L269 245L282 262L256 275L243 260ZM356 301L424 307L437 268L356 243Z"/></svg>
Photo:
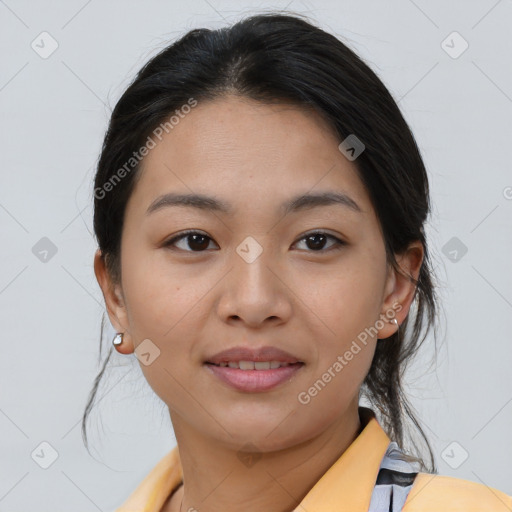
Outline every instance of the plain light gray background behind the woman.
<svg viewBox="0 0 512 512"><path fill-rule="evenodd" d="M133 355L115 359L91 416L94 458L82 443L103 311L94 166L110 109L151 55L188 29L287 5L350 44L412 127L445 340L437 370L427 352L413 366L412 402L441 474L512 494L510 0L0 0L0 511L113 510L175 445ZM43 31L59 45L47 59L31 48ZM442 47L453 31L469 44L457 58ZM46 263L33 253L43 237L57 248ZM456 262L454 243L467 247ZM58 453L48 469L31 457L50 453L42 442Z"/></svg>

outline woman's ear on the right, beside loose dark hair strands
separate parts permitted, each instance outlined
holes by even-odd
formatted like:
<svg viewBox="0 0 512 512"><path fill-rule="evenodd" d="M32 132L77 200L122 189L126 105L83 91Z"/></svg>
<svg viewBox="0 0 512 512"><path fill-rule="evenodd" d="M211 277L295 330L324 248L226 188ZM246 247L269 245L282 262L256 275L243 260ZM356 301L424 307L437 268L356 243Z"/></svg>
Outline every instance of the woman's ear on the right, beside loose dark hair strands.
<svg viewBox="0 0 512 512"><path fill-rule="evenodd" d="M416 294L416 284L409 276L418 280L423 257L424 248L419 240L412 242L402 254L395 255L397 263L405 275L389 266L380 316L384 321L384 327L379 329L378 339L388 338L396 332L397 327L393 318L397 319L398 325L401 325L407 318Z"/></svg>

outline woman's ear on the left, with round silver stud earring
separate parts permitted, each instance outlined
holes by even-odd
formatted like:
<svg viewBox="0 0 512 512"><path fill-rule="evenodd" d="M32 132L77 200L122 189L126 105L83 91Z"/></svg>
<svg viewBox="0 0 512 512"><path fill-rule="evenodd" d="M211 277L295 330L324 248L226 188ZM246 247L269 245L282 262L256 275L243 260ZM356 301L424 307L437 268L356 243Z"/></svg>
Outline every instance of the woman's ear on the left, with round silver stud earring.
<svg viewBox="0 0 512 512"><path fill-rule="evenodd" d="M134 351L134 345L129 333L128 315L121 285L113 282L100 249L94 254L94 273L103 292L110 323L117 332L123 333L123 343L117 345L116 350L123 354L130 354Z"/></svg>

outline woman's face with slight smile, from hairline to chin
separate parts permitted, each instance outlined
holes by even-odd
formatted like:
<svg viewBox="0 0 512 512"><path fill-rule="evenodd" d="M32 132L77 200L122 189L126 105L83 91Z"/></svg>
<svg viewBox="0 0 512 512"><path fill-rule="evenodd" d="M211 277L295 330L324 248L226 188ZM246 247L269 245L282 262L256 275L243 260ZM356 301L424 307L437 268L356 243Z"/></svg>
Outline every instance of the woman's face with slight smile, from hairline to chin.
<svg viewBox="0 0 512 512"><path fill-rule="evenodd" d="M175 427L261 451L310 439L357 410L377 337L396 331L377 320L401 323L408 309L394 314L405 292L395 294L355 164L316 114L233 96L199 102L163 135L127 204L122 299L109 302L112 323L126 333L124 346L138 347ZM345 200L293 207L299 196L323 193ZM211 199L151 208L166 194ZM185 230L196 236L168 244ZM315 231L325 236L308 238ZM376 322L378 334L365 336ZM240 346L274 347L300 363L277 371L216 367L245 379L235 387L207 361ZM258 371L286 378L263 389L270 384L256 381Z"/></svg>

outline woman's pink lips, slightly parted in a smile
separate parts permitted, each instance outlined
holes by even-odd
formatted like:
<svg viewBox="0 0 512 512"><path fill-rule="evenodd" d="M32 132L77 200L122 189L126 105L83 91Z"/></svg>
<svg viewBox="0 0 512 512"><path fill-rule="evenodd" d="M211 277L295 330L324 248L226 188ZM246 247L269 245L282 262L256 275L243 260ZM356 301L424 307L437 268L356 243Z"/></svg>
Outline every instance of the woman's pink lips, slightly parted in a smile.
<svg viewBox="0 0 512 512"><path fill-rule="evenodd" d="M288 365L269 370L240 370L229 366L216 366L230 361L279 361ZM204 366L214 376L235 389L254 393L268 391L289 380L304 366L304 363L288 352L275 347L259 349L235 347L210 357L205 361Z"/></svg>

